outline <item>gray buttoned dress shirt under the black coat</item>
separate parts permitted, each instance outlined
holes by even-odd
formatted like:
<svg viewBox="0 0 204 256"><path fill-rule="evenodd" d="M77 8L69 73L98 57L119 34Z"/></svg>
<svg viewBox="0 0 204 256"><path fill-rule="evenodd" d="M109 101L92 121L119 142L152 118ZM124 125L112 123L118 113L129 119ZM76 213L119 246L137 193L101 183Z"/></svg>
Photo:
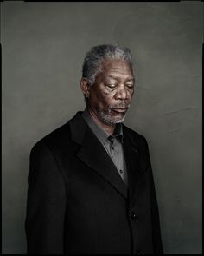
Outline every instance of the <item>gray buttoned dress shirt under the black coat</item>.
<svg viewBox="0 0 204 256"><path fill-rule="evenodd" d="M124 135L121 123L116 124L113 135L109 135L105 132L105 130L100 128L95 121L93 121L92 116L88 113L87 109L85 109L82 116L87 125L92 129L94 135L96 135L101 144L104 146L107 154L110 156L115 167L117 168L118 174L128 187L127 167L124 159L123 149Z"/></svg>

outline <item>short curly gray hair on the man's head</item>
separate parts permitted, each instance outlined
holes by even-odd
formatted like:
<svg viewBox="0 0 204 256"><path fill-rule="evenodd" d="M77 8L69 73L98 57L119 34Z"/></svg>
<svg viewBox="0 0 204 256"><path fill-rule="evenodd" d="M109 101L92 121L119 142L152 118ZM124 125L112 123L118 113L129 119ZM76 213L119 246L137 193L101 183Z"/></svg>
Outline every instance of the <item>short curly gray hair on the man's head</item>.
<svg viewBox="0 0 204 256"><path fill-rule="evenodd" d="M101 64L105 59L116 59L130 62L132 66L131 50L125 46L102 44L92 47L86 53L82 68L82 77L85 77L90 85L95 82L96 75L102 71Z"/></svg>

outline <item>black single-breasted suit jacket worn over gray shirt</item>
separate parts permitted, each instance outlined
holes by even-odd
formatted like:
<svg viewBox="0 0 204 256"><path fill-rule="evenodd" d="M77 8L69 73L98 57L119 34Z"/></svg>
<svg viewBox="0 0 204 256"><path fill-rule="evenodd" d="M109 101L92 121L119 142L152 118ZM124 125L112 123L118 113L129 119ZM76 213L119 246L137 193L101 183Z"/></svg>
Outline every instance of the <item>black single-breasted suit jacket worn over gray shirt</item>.
<svg viewBox="0 0 204 256"><path fill-rule="evenodd" d="M127 188L81 113L31 150L28 253L163 253L146 140L123 125Z"/></svg>

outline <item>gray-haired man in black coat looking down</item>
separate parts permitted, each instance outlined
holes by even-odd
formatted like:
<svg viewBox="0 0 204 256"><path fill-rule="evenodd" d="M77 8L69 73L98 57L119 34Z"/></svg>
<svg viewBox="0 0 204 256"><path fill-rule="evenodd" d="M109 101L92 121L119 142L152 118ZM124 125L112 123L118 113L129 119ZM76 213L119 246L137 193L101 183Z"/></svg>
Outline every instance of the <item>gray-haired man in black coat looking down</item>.
<svg viewBox="0 0 204 256"><path fill-rule="evenodd" d="M80 85L86 110L31 150L28 253L163 253L148 145L122 124L130 49L93 47Z"/></svg>

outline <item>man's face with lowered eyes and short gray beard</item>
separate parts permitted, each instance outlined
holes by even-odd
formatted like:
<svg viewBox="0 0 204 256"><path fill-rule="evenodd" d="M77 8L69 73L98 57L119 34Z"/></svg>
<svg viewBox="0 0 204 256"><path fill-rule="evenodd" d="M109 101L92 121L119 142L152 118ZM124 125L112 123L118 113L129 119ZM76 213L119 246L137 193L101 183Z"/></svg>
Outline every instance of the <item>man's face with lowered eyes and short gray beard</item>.
<svg viewBox="0 0 204 256"><path fill-rule="evenodd" d="M131 64L123 60L105 60L102 72L90 87L88 108L105 124L124 121L134 93Z"/></svg>

